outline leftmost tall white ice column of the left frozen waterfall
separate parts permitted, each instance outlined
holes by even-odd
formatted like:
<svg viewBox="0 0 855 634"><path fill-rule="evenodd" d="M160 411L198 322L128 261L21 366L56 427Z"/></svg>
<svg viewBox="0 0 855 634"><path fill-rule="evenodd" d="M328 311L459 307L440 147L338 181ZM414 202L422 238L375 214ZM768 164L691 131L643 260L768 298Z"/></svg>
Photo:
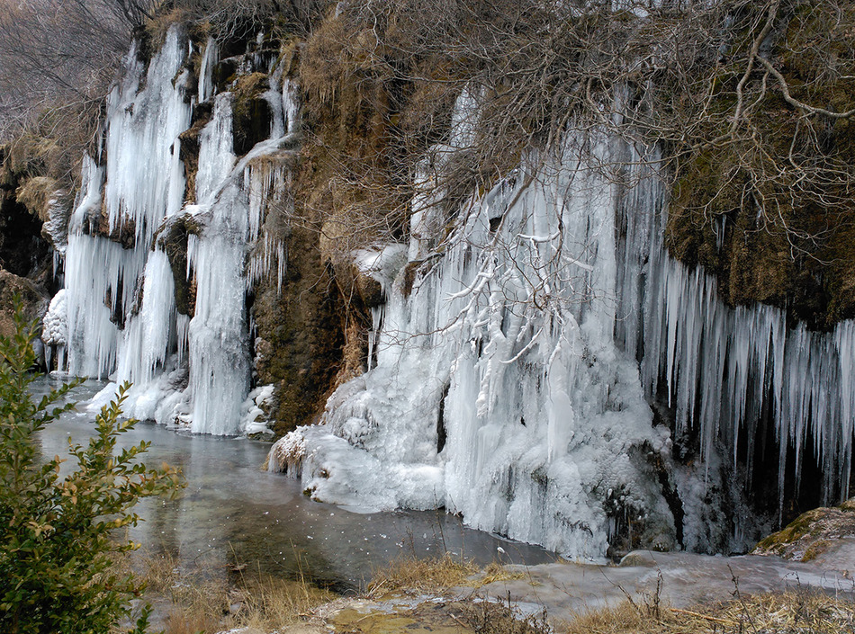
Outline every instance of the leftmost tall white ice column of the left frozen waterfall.
<svg viewBox="0 0 855 634"><path fill-rule="evenodd" d="M66 252L68 371L73 374L103 378L115 369L119 329L126 320L133 324L151 237L162 219L181 207L184 169L177 137L189 126L190 107L184 102L186 75L175 76L184 55L174 27L140 90L143 67L136 45L131 47L121 83L107 99L106 165L88 157L84 161ZM123 241L131 234L133 248L88 235L89 225L99 222L102 204L111 233ZM145 372L141 376L151 378Z"/></svg>

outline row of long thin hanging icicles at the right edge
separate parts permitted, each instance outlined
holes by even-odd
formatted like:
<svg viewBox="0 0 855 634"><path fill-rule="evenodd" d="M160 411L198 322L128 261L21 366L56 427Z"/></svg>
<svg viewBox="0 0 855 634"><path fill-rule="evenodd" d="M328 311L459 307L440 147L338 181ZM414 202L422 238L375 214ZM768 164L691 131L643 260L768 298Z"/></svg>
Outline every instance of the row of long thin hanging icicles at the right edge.
<svg viewBox="0 0 855 634"><path fill-rule="evenodd" d="M664 388L678 433L698 425L702 456L719 443L734 467L744 446L751 478L761 424L771 421L779 444L779 505L788 493L788 467L798 487L806 460L818 460L824 471L826 505L846 499L855 431L855 322L842 322L831 334L803 325L790 329L779 308L726 307L716 279L701 267L690 272L667 256L653 262L642 377L649 394ZM806 455L809 447L815 455ZM795 465L788 465L790 450Z"/></svg>

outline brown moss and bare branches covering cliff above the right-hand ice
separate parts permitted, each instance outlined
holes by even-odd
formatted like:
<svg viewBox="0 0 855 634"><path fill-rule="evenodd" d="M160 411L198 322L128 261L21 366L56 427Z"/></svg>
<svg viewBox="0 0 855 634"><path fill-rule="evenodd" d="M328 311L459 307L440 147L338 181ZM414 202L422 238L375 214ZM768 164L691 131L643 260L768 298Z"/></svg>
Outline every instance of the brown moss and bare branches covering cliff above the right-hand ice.
<svg viewBox="0 0 855 634"><path fill-rule="evenodd" d="M844 0L342 5L299 71L325 252L406 234L417 164L467 90L470 145L430 174L447 219L568 126L608 129L663 148L673 255L731 304L833 326L855 311L853 24Z"/></svg>

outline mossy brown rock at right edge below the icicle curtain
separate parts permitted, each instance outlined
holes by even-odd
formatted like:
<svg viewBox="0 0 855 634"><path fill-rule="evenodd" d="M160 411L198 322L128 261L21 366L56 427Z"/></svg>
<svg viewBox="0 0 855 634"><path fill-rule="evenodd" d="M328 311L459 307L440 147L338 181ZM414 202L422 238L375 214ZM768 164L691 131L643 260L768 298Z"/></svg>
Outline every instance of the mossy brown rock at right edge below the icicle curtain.
<svg viewBox="0 0 855 634"><path fill-rule="evenodd" d="M793 561L811 561L855 540L855 497L840 506L802 513L782 531L762 540L752 555L777 555Z"/></svg>

